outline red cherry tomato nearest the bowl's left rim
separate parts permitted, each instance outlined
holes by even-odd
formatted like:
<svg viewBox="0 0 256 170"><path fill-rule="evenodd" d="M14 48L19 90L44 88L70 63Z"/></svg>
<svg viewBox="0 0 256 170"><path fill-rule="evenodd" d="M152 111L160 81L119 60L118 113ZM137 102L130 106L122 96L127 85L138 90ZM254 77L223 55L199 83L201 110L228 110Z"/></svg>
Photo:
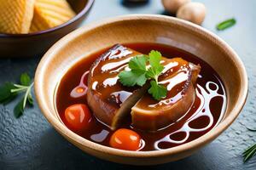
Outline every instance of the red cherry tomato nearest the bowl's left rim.
<svg viewBox="0 0 256 170"><path fill-rule="evenodd" d="M90 110L84 104L75 104L67 107L65 117L69 125L76 130L88 127L91 118Z"/></svg>

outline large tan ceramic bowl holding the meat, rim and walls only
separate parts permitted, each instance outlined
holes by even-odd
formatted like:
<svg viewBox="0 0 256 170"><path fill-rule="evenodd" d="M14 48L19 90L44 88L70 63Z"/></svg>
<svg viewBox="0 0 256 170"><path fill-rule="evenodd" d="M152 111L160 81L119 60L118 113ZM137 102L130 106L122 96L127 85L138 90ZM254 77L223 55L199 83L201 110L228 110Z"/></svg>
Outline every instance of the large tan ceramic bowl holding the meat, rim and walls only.
<svg viewBox="0 0 256 170"><path fill-rule="evenodd" d="M225 116L218 126L187 144L154 151L117 150L91 142L70 131L60 121L55 109L55 90L61 77L80 59L115 43L129 42L157 42L182 48L212 65L224 82L228 99ZM163 15L136 14L95 22L56 42L38 65L35 92L38 105L50 124L84 152L108 161L152 165L189 156L223 133L245 104L247 73L236 52L201 26Z"/></svg>

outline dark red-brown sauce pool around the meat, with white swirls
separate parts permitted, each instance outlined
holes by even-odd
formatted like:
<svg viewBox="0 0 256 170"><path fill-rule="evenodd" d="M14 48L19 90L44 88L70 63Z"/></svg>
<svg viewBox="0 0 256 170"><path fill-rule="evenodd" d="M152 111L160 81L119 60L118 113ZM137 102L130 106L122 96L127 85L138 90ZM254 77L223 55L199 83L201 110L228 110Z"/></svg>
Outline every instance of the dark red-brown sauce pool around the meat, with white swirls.
<svg viewBox="0 0 256 170"><path fill-rule="evenodd" d="M131 127L131 117L127 117L124 128L136 131L143 139L143 145L140 150L162 150L171 148L179 144L187 143L191 140L201 137L207 133L221 121L224 116L226 106L226 96L224 86L217 73L201 59L198 59L192 54L184 52L177 48L172 48L166 45L151 44L151 43L135 43L125 44L126 47L137 50L140 53L148 54L152 49L160 51L167 58L181 57L195 65L201 65L200 77L197 79L196 98L190 110L177 122L170 126L161 129L155 133L143 132ZM81 92L83 88L86 91L87 73L90 70L90 65L100 57L107 49L99 51L91 55L89 58L81 60L77 65L74 65L67 74L62 78L56 93L56 108L59 112L62 122L67 127L65 120L65 109L69 105L84 103L86 104L86 96ZM102 78L102 82L106 79ZM112 80L111 80L112 81ZM107 81L111 83L111 81ZM131 91L131 88L129 88ZM128 91L129 91L128 90ZM83 91L83 90L82 90ZM83 91L83 92L84 92ZM118 106L118 102L113 102ZM155 101L152 103L155 105ZM93 112L93 111L91 111ZM72 127L69 127L72 129ZM84 131L76 131L75 133L85 139L89 139L98 144L109 146L109 140L113 131L97 121L93 116L90 125Z"/></svg>

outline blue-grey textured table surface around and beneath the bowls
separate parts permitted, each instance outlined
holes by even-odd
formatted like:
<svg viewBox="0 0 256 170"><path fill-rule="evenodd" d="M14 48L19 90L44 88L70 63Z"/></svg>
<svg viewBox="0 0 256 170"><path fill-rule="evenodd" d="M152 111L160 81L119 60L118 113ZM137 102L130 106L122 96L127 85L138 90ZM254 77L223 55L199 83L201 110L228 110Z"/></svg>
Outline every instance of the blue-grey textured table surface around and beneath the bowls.
<svg viewBox="0 0 256 170"><path fill-rule="evenodd" d="M247 68L249 94L247 103L230 128L193 156L149 169L256 169L256 157L242 162L241 152L256 142L256 1L198 0L207 6L203 27L216 33L234 48ZM88 20L102 20L119 14L163 14L160 0L140 6L124 6L119 0L96 0ZM235 17L236 26L216 31L219 21ZM0 83L16 82L21 72L34 74L41 56L30 59L0 59ZM17 100L15 101L17 102ZM38 105L20 119L13 115L13 102L0 105L0 169L133 169L102 161L67 142L49 125Z"/></svg>

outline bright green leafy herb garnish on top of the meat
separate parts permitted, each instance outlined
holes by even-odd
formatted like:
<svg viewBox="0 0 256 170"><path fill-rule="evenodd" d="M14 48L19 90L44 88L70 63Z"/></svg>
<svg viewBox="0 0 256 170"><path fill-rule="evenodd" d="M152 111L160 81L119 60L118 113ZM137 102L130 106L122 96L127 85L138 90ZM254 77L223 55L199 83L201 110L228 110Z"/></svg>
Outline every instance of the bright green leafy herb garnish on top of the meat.
<svg viewBox="0 0 256 170"><path fill-rule="evenodd" d="M164 70L164 66L160 64L161 57L160 52L154 50L148 56L135 56L129 62L131 71L121 71L119 73L119 82L128 87L135 85L142 87L147 80L150 80L151 87L148 89L148 94L151 94L157 100L165 98L167 90L158 83L158 77ZM147 69L146 65L148 61L150 65Z"/></svg>

